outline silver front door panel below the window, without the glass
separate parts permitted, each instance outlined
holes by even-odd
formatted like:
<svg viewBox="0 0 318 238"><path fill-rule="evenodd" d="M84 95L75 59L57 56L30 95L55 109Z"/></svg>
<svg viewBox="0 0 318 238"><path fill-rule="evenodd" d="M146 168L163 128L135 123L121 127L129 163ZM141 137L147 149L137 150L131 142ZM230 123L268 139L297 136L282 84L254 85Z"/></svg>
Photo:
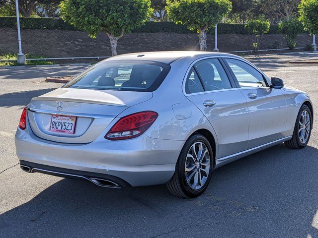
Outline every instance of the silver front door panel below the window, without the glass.
<svg viewBox="0 0 318 238"><path fill-rule="evenodd" d="M283 138L286 130L287 105L280 89L240 88L249 112L247 149ZM250 96L256 97L250 97Z"/></svg>

